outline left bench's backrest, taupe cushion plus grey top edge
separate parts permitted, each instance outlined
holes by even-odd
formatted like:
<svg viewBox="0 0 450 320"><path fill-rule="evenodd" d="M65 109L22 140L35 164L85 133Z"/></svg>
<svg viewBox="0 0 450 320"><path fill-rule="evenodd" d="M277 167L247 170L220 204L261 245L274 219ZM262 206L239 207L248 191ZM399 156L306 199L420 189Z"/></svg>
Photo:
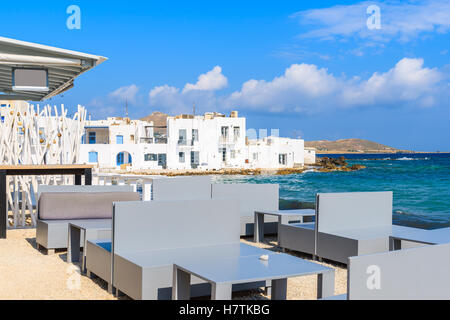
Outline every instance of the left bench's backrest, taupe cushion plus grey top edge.
<svg viewBox="0 0 450 320"><path fill-rule="evenodd" d="M114 201L140 199L138 193L129 191L132 190L129 186L48 187L39 188L38 216L41 220L111 219Z"/></svg>

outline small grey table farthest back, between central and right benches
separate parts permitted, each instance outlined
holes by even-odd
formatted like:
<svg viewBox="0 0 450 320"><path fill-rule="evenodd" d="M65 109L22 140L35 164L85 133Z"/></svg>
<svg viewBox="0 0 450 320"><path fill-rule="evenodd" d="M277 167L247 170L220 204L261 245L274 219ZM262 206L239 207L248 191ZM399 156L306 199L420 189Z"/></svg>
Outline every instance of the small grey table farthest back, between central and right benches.
<svg viewBox="0 0 450 320"><path fill-rule="evenodd" d="M295 210L267 210L255 211L255 228L254 228L254 242L261 242L264 240L264 216L277 216L278 224L287 224L289 221L296 220L299 223L304 222L305 217L315 217L316 210L314 209L295 209Z"/></svg>

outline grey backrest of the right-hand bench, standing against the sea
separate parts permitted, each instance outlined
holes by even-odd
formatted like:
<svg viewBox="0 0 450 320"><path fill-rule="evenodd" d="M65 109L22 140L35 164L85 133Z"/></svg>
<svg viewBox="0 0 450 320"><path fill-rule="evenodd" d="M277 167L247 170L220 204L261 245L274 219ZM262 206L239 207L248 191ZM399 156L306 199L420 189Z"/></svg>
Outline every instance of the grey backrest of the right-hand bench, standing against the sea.
<svg viewBox="0 0 450 320"><path fill-rule="evenodd" d="M319 193L317 230L341 230L392 226L392 198L388 192Z"/></svg>

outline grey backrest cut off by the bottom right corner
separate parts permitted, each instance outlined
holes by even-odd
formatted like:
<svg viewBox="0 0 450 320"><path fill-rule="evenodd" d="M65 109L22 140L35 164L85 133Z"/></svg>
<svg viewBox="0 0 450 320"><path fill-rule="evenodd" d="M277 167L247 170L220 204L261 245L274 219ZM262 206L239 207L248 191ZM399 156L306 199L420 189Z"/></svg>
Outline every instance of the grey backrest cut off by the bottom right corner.
<svg viewBox="0 0 450 320"><path fill-rule="evenodd" d="M348 299L450 299L450 243L350 257Z"/></svg>

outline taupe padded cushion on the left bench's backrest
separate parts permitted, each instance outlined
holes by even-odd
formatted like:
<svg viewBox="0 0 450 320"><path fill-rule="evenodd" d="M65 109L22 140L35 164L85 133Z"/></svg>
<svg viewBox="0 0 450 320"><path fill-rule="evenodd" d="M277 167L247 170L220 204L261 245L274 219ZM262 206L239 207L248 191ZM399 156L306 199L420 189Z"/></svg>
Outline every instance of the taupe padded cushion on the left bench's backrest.
<svg viewBox="0 0 450 320"><path fill-rule="evenodd" d="M113 202L139 200L136 192L42 193L39 198L39 219L111 219Z"/></svg>

